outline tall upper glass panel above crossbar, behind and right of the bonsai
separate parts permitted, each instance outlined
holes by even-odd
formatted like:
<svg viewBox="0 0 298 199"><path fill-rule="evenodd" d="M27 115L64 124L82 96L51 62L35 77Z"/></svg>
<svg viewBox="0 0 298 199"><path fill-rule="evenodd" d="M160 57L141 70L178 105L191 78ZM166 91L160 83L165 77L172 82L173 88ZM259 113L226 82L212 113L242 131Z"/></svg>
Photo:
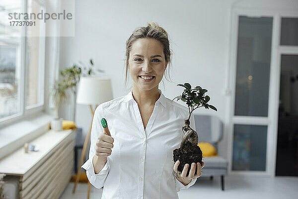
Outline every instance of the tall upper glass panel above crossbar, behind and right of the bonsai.
<svg viewBox="0 0 298 199"><path fill-rule="evenodd" d="M272 22L239 16L235 115L268 116Z"/></svg>

